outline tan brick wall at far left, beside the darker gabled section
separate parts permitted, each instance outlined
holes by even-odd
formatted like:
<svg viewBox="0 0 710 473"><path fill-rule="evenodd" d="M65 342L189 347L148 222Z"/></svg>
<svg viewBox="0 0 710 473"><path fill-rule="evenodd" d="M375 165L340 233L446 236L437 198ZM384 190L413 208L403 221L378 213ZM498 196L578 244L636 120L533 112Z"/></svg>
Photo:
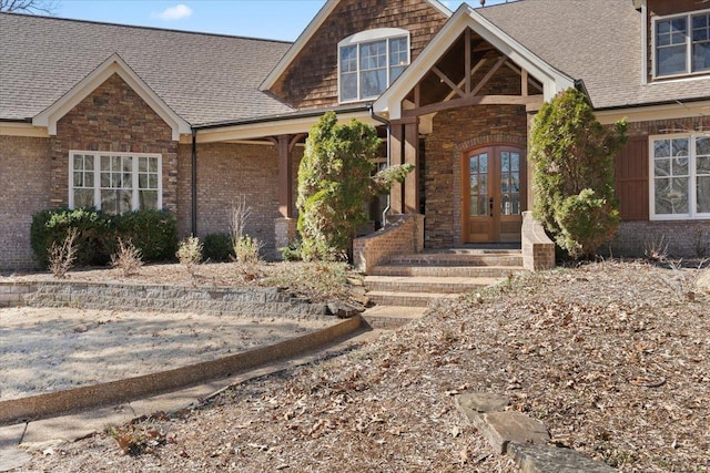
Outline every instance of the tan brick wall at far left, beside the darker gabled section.
<svg viewBox="0 0 710 473"><path fill-rule="evenodd" d="M37 265L30 225L49 207L49 155L48 138L0 136L0 273Z"/></svg>

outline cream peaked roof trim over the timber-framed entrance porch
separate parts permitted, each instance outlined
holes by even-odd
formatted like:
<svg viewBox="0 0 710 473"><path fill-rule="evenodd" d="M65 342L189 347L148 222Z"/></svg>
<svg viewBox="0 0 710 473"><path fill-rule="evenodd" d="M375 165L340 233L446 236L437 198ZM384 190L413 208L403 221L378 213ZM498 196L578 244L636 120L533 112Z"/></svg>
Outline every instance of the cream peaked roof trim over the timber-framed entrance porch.
<svg viewBox="0 0 710 473"><path fill-rule="evenodd" d="M547 62L497 28L476 10L462 4L446 22L436 37L424 49L419 56L399 75L373 104L377 113L388 112L390 120L402 113L402 100L437 63L446 51L456 42L466 28L470 28L485 41L508 56L513 62L526 69L538 79L545 89L545 100L550 100L557 92L575 85L575 80L556 70Z"/></svg>

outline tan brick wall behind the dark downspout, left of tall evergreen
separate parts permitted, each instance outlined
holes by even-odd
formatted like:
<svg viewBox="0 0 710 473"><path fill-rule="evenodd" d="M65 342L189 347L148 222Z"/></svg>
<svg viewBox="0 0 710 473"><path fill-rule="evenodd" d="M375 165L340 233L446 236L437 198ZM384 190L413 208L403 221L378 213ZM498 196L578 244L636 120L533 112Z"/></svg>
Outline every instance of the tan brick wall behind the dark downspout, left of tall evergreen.
<svg viewBox="0 0 710 473"><path fill-rule="evenodd" d="M296 146L293 154L296 176L303 147ZM192 222L192 146L180 145L178 156L178 230L184 237ZM294 183L294 193L295 187ZM231 210L242 195L252 209L246 233L264 244L266 256L275 256L275 227L281 218L276 146L197 144L197 236L230 232Z"/></svg>

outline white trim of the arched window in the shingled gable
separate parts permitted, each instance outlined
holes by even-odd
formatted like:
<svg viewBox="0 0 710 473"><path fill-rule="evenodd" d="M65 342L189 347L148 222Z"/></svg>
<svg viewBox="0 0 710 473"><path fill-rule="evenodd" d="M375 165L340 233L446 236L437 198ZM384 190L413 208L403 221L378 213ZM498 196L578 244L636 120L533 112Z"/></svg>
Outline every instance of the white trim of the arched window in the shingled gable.
<svg viewBox="0 0 710 473"><path fill-rule="evenodd" d="M389 73L390 73L390 69L392 65L389 64L389 42L390 40L398 40L398 39L403 39L406 38L407 39L407 63L406 66L408 66L409 64L412 64L412 34L409 33L409 31L400 29L400 28L377 28L374 30L366 30L366 31L361 31L358 33L352 34L347 38L345 38L344 40L342 40L341 42L337 43L337 101L338 103L356 103L356 102L363 102L363 101L368 101L368 100L375 100L377 99L379 95L373 95L373 96L362 96L362 92L361 92L361 63L359 63L359 59L361 59L361 47L363 44L368 44L368 43L374 43L374 42L379 42L379 41L385 41L386 42L386 71L387 71L387 86L385 88L385 90L387 90L390 85L392 85L392 80L389 78ZM343 74L341 72L342 65L341 65L341 50L343 48L347 48L347 47L355 47L356 48L356 62L357 62L357 68L356 68L356 78L357 78L357 96L355 99L343 99L343 89L342 89L342 78ZM406 68L405 66L405 68ZM383 91L384 92L384 91Z"/></svg>

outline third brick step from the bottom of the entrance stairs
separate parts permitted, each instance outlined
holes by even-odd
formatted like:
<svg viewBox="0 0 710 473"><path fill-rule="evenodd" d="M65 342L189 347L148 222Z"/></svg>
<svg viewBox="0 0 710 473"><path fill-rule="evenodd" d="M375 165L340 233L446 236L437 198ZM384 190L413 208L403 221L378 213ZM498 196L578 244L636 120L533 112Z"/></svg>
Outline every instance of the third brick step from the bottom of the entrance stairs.
<svg viewBox="0 0 710 473"><path fill-rule="evenodd" d="M436 277L436 276L366 276L367 296L372 292L462 294L490 286L499 278Z"/></svg>

